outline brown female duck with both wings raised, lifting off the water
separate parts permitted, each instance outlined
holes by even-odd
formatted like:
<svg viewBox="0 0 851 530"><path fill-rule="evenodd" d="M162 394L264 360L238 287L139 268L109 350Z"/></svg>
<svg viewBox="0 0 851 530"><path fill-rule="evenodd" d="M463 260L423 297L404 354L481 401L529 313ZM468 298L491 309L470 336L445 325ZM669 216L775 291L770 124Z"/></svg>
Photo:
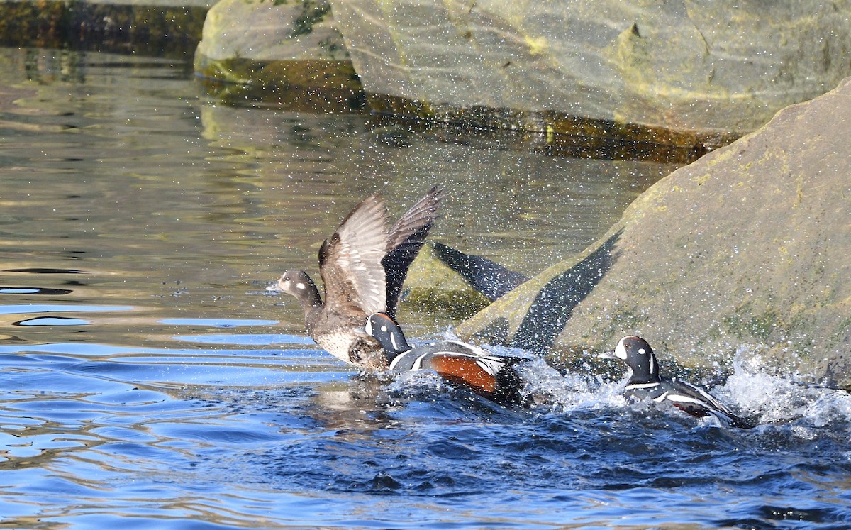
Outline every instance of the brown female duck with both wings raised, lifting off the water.
<svg viewBox="0 0 851 530"><path fill-rule="evenodd" d="M396 313L408 266L442 199L441 187L432 187L389 232L384 201L377 195L363 199L319 249L324 301L304 271L285 272L268 290L298 299L307 333L329 354L351 365L386 369L384 349L363 332L363 324L368 314Z"/></svg>

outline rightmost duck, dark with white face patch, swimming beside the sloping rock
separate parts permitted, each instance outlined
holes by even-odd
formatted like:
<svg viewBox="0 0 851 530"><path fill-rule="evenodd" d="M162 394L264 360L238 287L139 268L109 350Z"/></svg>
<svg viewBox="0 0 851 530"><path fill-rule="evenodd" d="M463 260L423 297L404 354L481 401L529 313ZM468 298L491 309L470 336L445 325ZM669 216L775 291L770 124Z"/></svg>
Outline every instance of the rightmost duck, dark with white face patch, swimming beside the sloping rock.
<svg viewBox="0 0 851 530"><path fill-rule="evenodd" d="M711 414L722 423L733 427L754 427L751 420L740 418L704 389L677 377L661 377L656 355L642 337L623 337L614 351L599 354L598 357L620 359L632 369L632 375L624 390L624 394L631 399L649 397L657 402L670 401L677 408L698 418Z"/></svg>

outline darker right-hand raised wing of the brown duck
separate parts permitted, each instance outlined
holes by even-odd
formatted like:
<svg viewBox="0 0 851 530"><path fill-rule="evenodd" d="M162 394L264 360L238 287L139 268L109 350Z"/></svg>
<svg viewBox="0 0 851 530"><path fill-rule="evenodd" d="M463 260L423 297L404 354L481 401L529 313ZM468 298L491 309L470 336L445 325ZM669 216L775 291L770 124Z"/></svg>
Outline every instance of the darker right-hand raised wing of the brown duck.
<svg viewBox="0 0 851 530"><path fill-rule="evenodd" d="M386 313L391 317L396 316L396 306L402 285L408 276L408 267L426 242L426 237L437 219L437 209L442 199L441 187L432 187L426 196L417 201L390 229L386 256L382 263L386 271Z"/></svg>

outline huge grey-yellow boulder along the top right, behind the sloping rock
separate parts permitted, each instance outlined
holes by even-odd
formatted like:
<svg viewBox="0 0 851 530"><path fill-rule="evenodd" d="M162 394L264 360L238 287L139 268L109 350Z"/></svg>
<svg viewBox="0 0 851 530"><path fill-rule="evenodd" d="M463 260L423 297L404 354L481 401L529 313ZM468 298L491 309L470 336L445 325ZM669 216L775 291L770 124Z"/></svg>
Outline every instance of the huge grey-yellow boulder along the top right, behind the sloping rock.
<svg viewBox="0 0 851 530"><path fill-rule="evenodd" d="M471 124L717 147L851 75L848 2L330 3L370 105Z"/></svg>

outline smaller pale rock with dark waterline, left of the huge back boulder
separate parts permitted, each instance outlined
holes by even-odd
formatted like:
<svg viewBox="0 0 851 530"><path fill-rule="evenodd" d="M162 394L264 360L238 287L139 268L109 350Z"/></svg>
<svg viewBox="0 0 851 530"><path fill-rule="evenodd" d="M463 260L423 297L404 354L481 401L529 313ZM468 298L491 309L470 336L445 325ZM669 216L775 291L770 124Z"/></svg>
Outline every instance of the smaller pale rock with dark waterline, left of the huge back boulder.
<svg viewBox="0 0 851 530"><path fill-rule="evenodd" d="M363 107L363 90L325 0L221 0L207 14L195 71L211 94L311 112Z"/></svg>

